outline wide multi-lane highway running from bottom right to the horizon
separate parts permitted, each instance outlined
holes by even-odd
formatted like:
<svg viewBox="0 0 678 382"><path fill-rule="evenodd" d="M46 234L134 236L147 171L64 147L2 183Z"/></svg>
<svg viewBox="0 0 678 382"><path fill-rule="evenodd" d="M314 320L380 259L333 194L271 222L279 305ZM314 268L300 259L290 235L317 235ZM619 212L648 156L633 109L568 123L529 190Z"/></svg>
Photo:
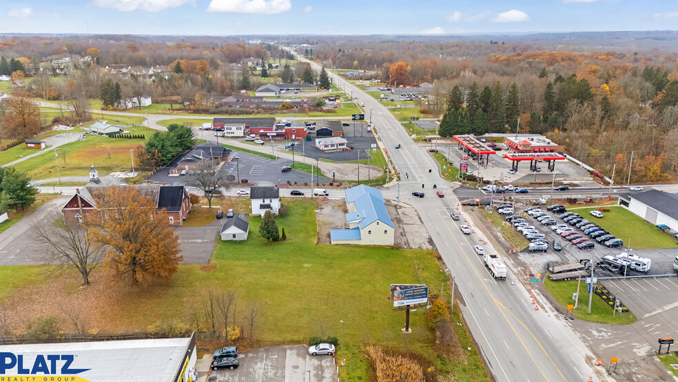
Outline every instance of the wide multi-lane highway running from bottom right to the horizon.
<svg viewBox="0 0 678 382"><path fill-rule="evenodd" d="M317 63L297 57L320 71ZM400 200L418 210L442 259L455 277L464 319L493 380L588 381L589 376L593 376L594 381L608 380L600 368L593 368L595 356L558 314L552 310L535 311L524 283L511 285L511 279L524 277L524 274L513 274L511 268L515 265L509 266L507 281L495 281L490 277L482 259L473 252L480 234L477 227L474 225L475 234L464 235L459 222L451 220L449 213L458 204L458 199L450 192L451 183L440 178L436 163L408 137L396 117L369 94L329 70L328 74L333 83L353 92L356 102L364 102L367 114L371 110L372 123L401 174ZM395 148L398 143L402 145L400 149ZM439 188L434 190L433 185ZM384 196L395 198L397 189L396 186L384 190ZM411 192L415 190L424 191L426 197L412 197ZM444 198L435 197L438 190L445 191ZM500 255L512 265L506 254ZM400 282L404 281L393 280L393 283ZM538 303L544 301L538 293L535 297Z"/></svg>

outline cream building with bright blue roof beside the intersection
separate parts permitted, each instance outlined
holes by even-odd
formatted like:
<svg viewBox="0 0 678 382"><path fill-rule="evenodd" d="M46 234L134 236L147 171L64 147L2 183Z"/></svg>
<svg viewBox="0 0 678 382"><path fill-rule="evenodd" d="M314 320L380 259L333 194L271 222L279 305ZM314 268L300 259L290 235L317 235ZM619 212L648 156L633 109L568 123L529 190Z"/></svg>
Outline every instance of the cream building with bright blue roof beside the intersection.
<svg viewBox="0 0 678 382"><path fill-rule="evenodd" d="M346 230L331 230L332 244L393 245L395 229L380 190L358 185L345 192Z"/></svg>

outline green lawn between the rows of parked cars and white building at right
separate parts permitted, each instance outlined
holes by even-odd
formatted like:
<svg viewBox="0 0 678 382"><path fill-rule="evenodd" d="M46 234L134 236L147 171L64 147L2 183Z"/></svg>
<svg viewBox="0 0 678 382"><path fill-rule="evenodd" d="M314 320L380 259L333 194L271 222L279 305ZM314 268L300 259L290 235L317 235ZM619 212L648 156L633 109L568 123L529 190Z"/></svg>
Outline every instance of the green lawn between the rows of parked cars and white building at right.
<svg viewBox="0 0 678 382"><path fill-rule="evenodd" d="M611 206L610 211L603 212L603 217L597 219L588 212L597 208L570 207L568 211L577 212L582 217L599 224L604 230L624 241L626 248L648 250L653 248L676 248L675 238L661 232L655 225L648 223L633 212L621 206ZM629 247L630 241L630 247Z"/></svg>

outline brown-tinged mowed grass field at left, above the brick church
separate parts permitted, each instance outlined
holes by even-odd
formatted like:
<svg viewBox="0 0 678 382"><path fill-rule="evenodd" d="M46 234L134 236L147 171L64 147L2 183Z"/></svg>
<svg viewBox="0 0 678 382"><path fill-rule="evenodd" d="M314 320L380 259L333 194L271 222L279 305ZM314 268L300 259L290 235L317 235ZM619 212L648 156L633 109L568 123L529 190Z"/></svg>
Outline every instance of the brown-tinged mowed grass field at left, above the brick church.
<svg viewBox="0 0 678 382"><path fill-rule="evenodd" d="M63 154L59 154L59 175L85 176L91 165L99 170L100 176L114 171L132 170L130 150L144 142L145 139L115 139L88 135L84 141L66 143L59 148L66 150L65 164ZM21 161L14 167L27 171L31 179L49 179L57 176L55 164L54 153L45 152Z"/></svg>

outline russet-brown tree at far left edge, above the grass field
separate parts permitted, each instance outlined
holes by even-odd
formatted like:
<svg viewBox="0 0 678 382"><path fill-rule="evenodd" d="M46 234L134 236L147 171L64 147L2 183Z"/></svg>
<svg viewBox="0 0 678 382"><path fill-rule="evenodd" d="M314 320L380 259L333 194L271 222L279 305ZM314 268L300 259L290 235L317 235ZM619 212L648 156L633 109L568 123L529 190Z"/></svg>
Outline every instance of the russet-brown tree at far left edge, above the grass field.
<svg viewBox="0 0 678 382"><path fill-rule="evenodd" d="M6 102L3 123L9 137L29 139L40 132L40 108L28 94L15 93Z"/></svg>

